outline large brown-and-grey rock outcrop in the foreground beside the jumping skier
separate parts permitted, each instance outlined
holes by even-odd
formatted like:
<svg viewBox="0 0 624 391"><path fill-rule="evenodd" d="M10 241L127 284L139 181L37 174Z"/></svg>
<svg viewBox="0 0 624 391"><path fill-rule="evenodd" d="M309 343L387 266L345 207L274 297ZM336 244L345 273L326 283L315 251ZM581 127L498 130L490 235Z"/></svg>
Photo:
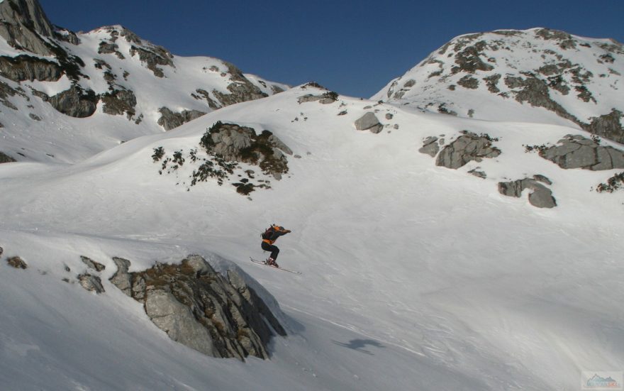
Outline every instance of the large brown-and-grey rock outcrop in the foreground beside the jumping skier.
<svg viewBox="0 0 624 391"><path fill-rule="evenodd" d="M147 316L169 338L189 348L214 357L269 358L273 331L286 335L238 272L229 270L225 277L199 255L189 255L179 265L157 263L132 273L128 260L116 259L121 268L111 282L143 303Z"/></svg>

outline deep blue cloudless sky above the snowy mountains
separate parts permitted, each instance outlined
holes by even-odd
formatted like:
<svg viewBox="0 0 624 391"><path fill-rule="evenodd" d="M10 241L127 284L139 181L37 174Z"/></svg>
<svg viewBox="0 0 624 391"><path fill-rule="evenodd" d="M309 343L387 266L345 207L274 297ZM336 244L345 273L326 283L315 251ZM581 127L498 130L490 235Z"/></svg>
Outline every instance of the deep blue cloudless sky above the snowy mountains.
<svg viewBox="0 0 624 391"><path fill-rule="evenodd" d="M623 0L40 0L72 31L121 24L174 55L370 97L464 33L547 27L624 42Z"/></svg>

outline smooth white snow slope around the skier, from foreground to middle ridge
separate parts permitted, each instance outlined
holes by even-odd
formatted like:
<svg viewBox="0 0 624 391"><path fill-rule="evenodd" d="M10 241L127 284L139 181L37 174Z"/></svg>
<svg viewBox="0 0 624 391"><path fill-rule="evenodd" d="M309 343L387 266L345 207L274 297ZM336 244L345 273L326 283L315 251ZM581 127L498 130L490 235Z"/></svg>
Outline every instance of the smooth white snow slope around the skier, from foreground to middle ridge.
<svg viewBox="0 0 624 391"><path fill-rule="evenodd" d="M616 170L564 170L523 146L583 131L347 97L299 103L309 94L323 90L228 106L67 167L0 165L3 257L29 265L0 263L6 388L573 390L581 370L623 368L624 195L591 191ZM367 112L380 133L355 130ZM251 200L228 182L249 169L267 179L257 167L240 164L223 186L183 185L210 158L199 143L217 121L287 145L282 180ZM428 136L450 143L464 130L502 153L458 170L418 153ZM160 147L181 151L184 165L159 174ZM486 179L467 175L477 166ZM497 190L536 174L552 181L556 208ZM293 231L277 242L279 263L303 275L249 262L272 222ZM277 299L289 336L271 360L179 346L106 278L113 256L139 269L188 253L235 263ZM104 294L62 281L84 268L79 255L106 265Z"/></svg>

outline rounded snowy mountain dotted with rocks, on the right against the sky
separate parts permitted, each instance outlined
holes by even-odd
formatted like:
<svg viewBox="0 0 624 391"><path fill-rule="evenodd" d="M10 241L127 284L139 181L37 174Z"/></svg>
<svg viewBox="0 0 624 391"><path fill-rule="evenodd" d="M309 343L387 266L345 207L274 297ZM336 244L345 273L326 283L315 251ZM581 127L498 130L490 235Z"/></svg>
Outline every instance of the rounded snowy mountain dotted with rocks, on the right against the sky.
<svg viewBox="0 0 624 391"><path fill-rule="evenodd" d="M624 142L624 47L532 28L460 35L372 97L488 121L569 126Z"/></svg>

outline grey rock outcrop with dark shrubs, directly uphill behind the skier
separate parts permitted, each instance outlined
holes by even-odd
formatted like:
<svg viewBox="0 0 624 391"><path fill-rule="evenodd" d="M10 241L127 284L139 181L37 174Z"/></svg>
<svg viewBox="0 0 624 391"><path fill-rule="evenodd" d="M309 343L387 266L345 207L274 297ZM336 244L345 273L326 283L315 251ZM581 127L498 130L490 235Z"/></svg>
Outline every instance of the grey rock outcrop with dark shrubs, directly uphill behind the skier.
<svg viewBox="0 0 624 391"><path fill-rule="evenodd" d="M222 156L225 161L258 165L277 180L288 172L288 160L284 153L292 153L270 131L257 134L254 128L221 121L208 129L201 138L201 145L209 154Z"/></svg>

